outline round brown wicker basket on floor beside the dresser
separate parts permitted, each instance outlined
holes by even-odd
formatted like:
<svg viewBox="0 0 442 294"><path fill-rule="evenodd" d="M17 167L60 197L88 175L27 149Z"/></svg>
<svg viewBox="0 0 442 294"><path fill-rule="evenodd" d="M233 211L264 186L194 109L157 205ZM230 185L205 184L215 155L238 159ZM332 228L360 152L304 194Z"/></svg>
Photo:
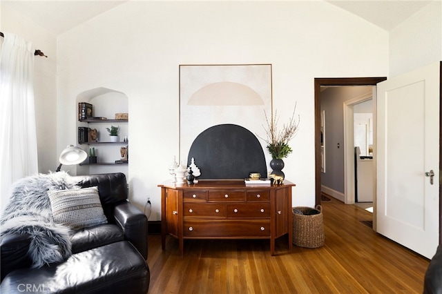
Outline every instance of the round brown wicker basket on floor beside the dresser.
<svg viewBox="0 0 442 294"><path fill-rule="evenodd" d="M297 213L295 211L297 210ZM293 244L305 248L318 248L324 245L323 207L294 207ZM302 214L300 214L301 212ZM311 214L310 213L316 213Z"/></svg>

